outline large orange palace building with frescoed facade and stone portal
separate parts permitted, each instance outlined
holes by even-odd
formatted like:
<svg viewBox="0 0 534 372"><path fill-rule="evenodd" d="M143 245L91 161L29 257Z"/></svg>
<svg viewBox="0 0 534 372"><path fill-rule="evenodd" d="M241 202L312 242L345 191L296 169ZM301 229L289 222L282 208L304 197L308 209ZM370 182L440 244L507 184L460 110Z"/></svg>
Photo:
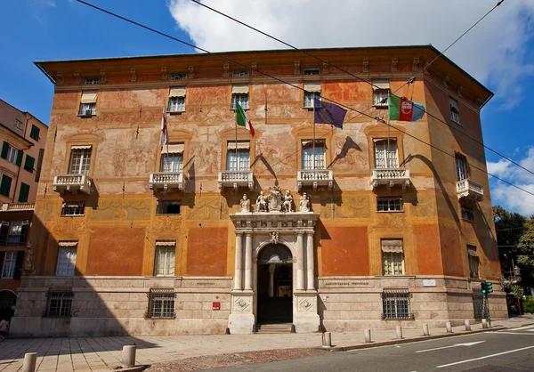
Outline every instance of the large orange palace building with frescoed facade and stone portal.
<svg viewBox="0 0 534 372"><path fill-rule="evenodd" d="M55 90L12 336L463 324L481 280L506 317L493 94L429 45L308 52L36 62ZM388 92L430 114L389 141ZM317 94L354 111L313 144Z"/></svg>

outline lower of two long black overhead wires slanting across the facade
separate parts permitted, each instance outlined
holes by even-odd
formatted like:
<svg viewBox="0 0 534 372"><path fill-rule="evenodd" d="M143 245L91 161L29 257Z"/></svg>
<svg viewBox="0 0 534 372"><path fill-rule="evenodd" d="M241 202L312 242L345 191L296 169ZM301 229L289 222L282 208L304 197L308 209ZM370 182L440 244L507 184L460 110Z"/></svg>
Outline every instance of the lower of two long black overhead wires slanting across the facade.
<svg viewBox="0 0 534 372"><path fill-rule="evenodd" d="M87 6L90 6L90 7L92 7L93 9L96 9L96 10L98 10L98 11L100 11L100 12L105 12L106 14L109 14L109 15L111 15L111 16L113 16L113 17L116 17L116 18L118 18L118 19L120 19L120 20L125 20L126 22L128 22L128 23L132 23L132 24L134 24L135 26L138 26L138 27L140 27L140 28L147 29L147 30L149 30L149 31L151 31L151 32L154 32L154 33L160 35L160 36L165 36L165 37L167 37L167 38L169 38L169 39L171 39L171 40L177 41L178 43L182 43L182 44L188 45L188 46L190 46L190 47L193 47L193 48L195 48L195 49L198 49L199 51L202 51L202 52L204 52L204 53L206 53L206 54L212 55L212 56L214 56L214 57L216 57L216 58L222 59L223 61L231 62L231 63L233 63L233 64L235 64L235 65L238 65L238 66L240 66L240 67L242 67L242 68L245 68L245 69L251 69L249 66L246 66L246 65L244 65L244 64L242 64L242 63L240 63L240 62L238 62L238 61L233 61L233 60L231 60L230 58L224 57L224 56L221 55L220 53L209 52L209 51L207 51L206 49L203 49L203 48L201 48L201 47L199 47L199 46L197 46L197 45L190 44L190 43L188 43L188 42L186 42L186 41L183 41L182 39L179 39L179 38L177 38L177 37L170 36L170 35L168 35L168 34L166 34L166 33L164 33L164 32L158 31L157 29L154 29L154 28L150 28L150 27L148 27L148 26L145 26L145 25L143 25L142 23L136 22L136 21L134 21L134 20L127 19L127 18L125 18L125 17L123 17L123 16L118 15L117 13L109 12L109 11L107 11L107 10L105 10L105 9L102 9L101 7L96 6L96 5L93 5L93 4L90 4L90 3L86 3L86 2L83 1L83 0L77 0L77 2L78 2L78 3L81 3L81 4L85 4L85 5L87 5ZM265 72L263 72L263 71L260 71L259 69L253 69L253 70L255 70L258 74L261 74L261 75L263 75L263 76L265 76L265 77L271 77L272 79L274 79L274 80L276 80L276 81L279 81L279 82L282 83L282 84L292 86L292 87L294 87L294 88L296 88L296 89L298 89L298 90L301 90L301 91L305 92L305 90L304 90L303 88L301 88L300 86L298 86L298 85L291 84L291 83L289 83L289 82L287 82L287 81L285 81L285 80L280 79L279 77L273 77L273 76L271 76L270 74L267 74L267 73L265 73ZM327 97L323 97L323 96L319 96L319 97L322 98L322 99L325 99L326 101L334 102L334 103L336 103L336 105L338 105L338 106L340 106L340 107L344 107L345 109L350 109L350 110L352 110L352 111L354 111L354 112L358 112L358 113L360 113L361 115L364 115L364 116L369 117L369 118L371 118L371 119L373 119L373 120L376 120L377 122L383 123L384 125L389 125L389 126L392 127L393 129L395 129L395 130L397 130L397 131L399 131L399 132L401 132L401 133L404 133L405 135L407 135L407 136L413 138L414 140L417 140L418 142L425 143L427 146L430 146L430 147L433 148L434 150L438 150L438 151L442 152L443 154L448 155L448 156L451 157L451 158L456 158L454 154L449 154L449 152L447 152L447 151L445 151L445 150L441 150L441 149L439 149L438 147L434 146L433 144L428 143L428 142L425 142L424 140L421 140L420 138L417 138L417 137L416 137L415 135L413 135L413 134L407 133L406 131L402 130L401 128L399 128L399 127L397 127L397 126L395 126L395 125L388 124L384 119L382 119L382 118L380 118L380 117L373 117L373 116L368 115L368 114L366 114L365 112L362 112L362 111L360 111L360 110L358 110L358 109L352 109L352 107L346 106L346 105L344 105L343 103L340 103L340 102L337 102L337 101L330 100L330 99L327 98ZM524 192L530 194L531 196L534 196L534 193L530 192L529 190L522 189L521 187L519 187L519 186L517 186L517 185L514 185L514 183L512 183L512 182L507 182L506 180L501 179L501 178L498 177L497 175L490 174L488 171L486 171L486 170L484 170L484 169L481 169L481 168L478 167L478 166L473 166L473 165L470 165L469 163L467 163L467 165L470 166L470 167L473 168L473 169L477 169L477 170L481 171L483 174L488 174L488 175L490 175L491 177L494 177L494 178L498 179L498 180L501 181L501 182L505 182L506 184L508 184L508 185L510 185L510 186L513 186L514 188L516 188L516 189L518 189L518 190L522 190L522 191L524 191Z"/></svg>

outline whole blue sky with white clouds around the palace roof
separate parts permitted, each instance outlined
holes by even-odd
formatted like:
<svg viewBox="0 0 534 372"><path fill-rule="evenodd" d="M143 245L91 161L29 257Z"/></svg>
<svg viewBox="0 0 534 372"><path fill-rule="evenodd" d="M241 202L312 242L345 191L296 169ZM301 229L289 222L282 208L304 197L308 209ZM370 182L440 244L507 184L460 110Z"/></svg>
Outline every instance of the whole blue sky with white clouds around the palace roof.
<svg viewBox="0 0 534 372"><path fill-rule="evenodd" d="M190 0L88 2L213 52L282 47ZM439 50L497 4L407 0L399 8L396 0L331 0L328 7L317 0L203 2L298 47L433 44ZM53 85L33 61L195 52L74 0L4 0L0 31L0 98L45 123ZM534 171L529 110L534 96L534 2L505 1L446 55L496 93L482 109L485 144ZM486 154L490 172L534 192L532 174ZM494 205L534 214L534 197L491 178L490 182Z"/></svg>

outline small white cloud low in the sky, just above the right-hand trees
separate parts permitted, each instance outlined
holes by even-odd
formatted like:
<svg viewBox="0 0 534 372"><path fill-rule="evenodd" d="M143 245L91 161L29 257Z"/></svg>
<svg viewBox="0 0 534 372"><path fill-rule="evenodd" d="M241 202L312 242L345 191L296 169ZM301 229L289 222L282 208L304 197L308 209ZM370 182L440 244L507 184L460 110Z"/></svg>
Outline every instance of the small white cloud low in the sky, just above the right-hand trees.
<svg viewBox="0 0 534 372"><path fill-rule="evenodd" d="M527 169L533 170L534 147L527 150L525 157L518 163ZM488 162L488 172L534 193L534 175L518 166L514 166L505 159L500 159L497 163ZM510 186L505 182L495 181L495 179L492 180L492 177L490 177L490 181L493 205L500 204L507 210L526 216L534 214L534 196L514 188L514 186Z"/></svg>

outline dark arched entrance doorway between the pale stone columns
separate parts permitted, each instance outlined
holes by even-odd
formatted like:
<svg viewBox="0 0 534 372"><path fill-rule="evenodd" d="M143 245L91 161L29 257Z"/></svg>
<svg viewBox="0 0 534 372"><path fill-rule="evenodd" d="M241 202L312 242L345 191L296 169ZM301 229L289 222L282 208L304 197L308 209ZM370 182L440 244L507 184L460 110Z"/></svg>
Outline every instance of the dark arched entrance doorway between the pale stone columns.
<svg viewBox="0 0 534 372"><path fill-rule="evenodd" d="M258 323L293 321L293 256L282 244L269 244L258 255Z"/></svg>

